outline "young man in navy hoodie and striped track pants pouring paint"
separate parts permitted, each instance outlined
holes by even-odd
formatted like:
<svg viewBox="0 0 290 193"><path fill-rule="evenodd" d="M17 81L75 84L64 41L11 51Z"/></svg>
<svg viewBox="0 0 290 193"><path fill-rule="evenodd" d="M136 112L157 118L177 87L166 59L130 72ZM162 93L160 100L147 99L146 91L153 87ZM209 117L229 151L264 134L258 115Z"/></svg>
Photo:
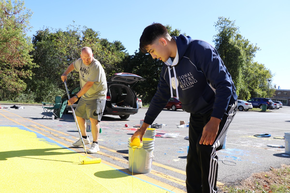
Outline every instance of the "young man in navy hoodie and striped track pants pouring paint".
<svg viewBox="0 0 290 193"><path fill-rule="evenodd" d="M217 192L216 151L222 149L237 112L238 96L231 75L212 45L184 35L171 37L160 23L144 29L139 46L164 64L144 123L133 136L142 140L168 99L176 95L190 113L187 192Z"/></svg>

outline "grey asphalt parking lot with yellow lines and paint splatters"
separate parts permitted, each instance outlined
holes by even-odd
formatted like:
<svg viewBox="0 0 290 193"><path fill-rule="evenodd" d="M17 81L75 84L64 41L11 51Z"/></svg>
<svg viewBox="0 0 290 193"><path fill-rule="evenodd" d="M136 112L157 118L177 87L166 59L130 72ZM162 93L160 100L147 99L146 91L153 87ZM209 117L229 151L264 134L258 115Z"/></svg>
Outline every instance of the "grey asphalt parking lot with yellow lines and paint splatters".
<svg viewBox="0 0 290 193"><path fill-rule="evenodd" d="M17 105L17 104L16 104ZM4 106L12 106L5 105ZM19 105L18 105L19 106ZM99 137L101 151L93 154L102 160L128 169L128 138L137 129L137 124L144 119L147 109L139 109L128 120L119 116L105 115L100 127ZM78 138L78 132L72 113L62 120L42 119L41 106L24 106L24 109L0 109L2 126L24 125L38 130L51 139L71 146ZM186 192L185 166L188 140L188 128L177 128L180 120L189 121L189 113L182 110L164 109L155 123L166 124L157 129L157 133L179 133L177 138L155 138L152 171L146 175L152 179L170 184ZM124 125L128 124L128 127ZM290 132L290 107L284 106L272 112L238 111L231 123L226 140L226 149L217 152L219 157L218 181L227 185L238 184L252 173L269 171L270 167L278 168L281 164L290 164L290 156L284 148L268 147L267 144L284 146L285 132ZM271 137L254 137L256 134L270 134ZM90 136L90 134L88 134ZM91 138L91 136L90 136ZM88 146L89 147L89 146ZM71 147L76 151L82 148Z"/></svg>

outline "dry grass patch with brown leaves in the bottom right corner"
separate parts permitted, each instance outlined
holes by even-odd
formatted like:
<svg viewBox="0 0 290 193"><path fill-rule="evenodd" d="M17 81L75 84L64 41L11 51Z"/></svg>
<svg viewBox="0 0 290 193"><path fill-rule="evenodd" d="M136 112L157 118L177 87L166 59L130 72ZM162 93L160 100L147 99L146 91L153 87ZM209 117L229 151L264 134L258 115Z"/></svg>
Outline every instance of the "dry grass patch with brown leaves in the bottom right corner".
<svg viewBox="0 0 290 193"><path fill-rule="evenodd" d="M238 187L219 187L223 193L289 193L290 165L270 168L269 172L254 173Z"/></svg>

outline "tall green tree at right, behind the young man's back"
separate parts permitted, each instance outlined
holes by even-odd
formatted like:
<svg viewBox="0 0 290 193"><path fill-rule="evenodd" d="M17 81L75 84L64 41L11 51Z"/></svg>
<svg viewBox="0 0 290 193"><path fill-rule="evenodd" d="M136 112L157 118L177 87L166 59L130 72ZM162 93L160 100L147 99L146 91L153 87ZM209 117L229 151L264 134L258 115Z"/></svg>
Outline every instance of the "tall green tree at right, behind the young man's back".
<svg viewBox="0 0 290 193"><path fill-rule="evenodd" d="M260 50L239 34L235 21L219 17L215 23L218 34L214 36L215 48L232 76L239 99L266 97L262 83L272 78L271 71L263 64L254 62L255 53Z"/></svg>

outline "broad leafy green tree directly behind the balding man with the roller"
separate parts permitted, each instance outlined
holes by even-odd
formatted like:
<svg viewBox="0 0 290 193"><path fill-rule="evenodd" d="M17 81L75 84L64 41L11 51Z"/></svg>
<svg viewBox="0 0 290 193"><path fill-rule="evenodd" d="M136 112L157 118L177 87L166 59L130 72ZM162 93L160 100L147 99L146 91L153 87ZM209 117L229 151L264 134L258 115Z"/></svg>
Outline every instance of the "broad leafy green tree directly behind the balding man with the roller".
<svg viewBox="0 0 290 193"><path fill-rule="evenodd" d="M118 46L115 46L116 42ZM55 96L65 93L60 77L71 63L80 58L82 47L92 48L94 58L102 64L107 76L121 71L119 63L126 55L121 42L100 39L98 31L86 26L69 25L65 31L45 28L37 31L32 43L35 49L31 54L39 68L34 69L35 76L27 80L27 84L36 93L38 102L54 101ZM72 71L67 84L68 87L79 84L79 73Z"/></svg>

